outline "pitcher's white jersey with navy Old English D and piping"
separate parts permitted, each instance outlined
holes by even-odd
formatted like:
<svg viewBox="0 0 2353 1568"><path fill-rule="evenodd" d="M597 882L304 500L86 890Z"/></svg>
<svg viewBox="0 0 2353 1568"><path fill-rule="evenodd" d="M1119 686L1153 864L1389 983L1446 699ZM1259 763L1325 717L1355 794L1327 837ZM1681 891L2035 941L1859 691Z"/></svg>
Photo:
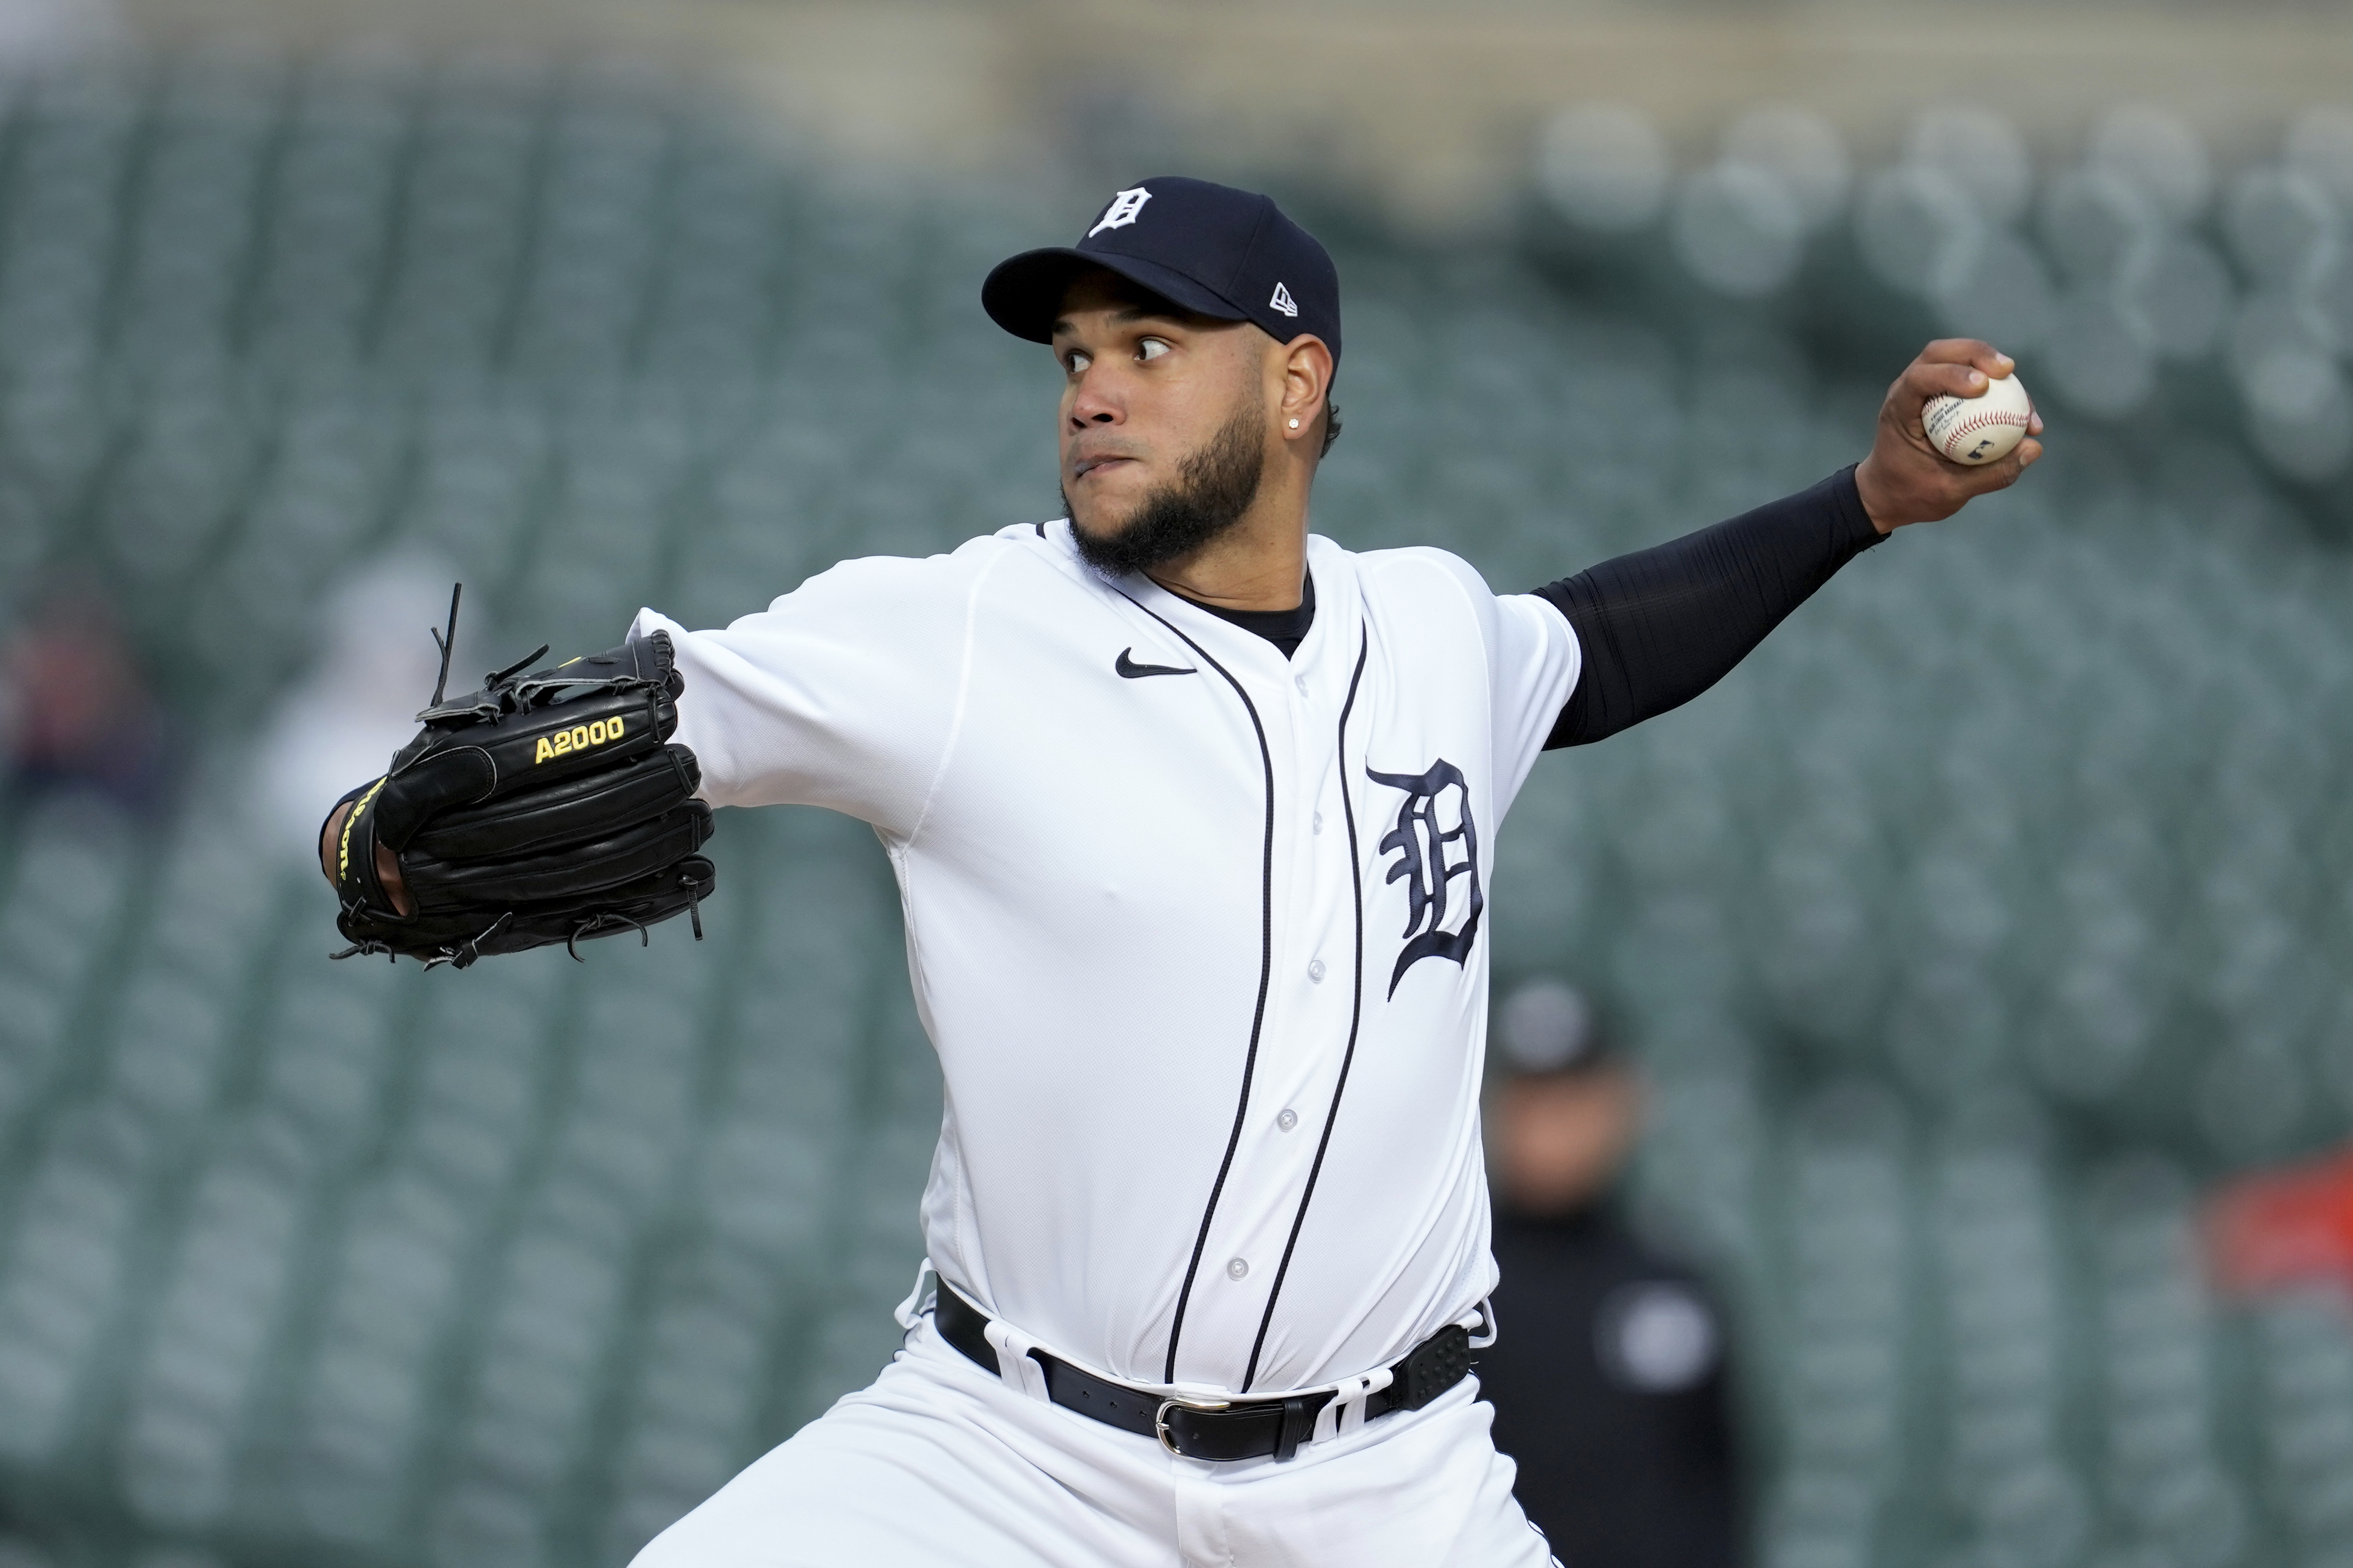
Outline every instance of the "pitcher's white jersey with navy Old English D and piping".
<svg viewBox="0 0 2353 1568"><path fill-rule="evenodd" d="M939 1274L1125 1382L1278 1396L1494 1284L1494 830L1577 684L1544 599L1308 541L1297 656L1066 522L835 567L678 646L720 806L875 827L946 1074Z"/></svg>

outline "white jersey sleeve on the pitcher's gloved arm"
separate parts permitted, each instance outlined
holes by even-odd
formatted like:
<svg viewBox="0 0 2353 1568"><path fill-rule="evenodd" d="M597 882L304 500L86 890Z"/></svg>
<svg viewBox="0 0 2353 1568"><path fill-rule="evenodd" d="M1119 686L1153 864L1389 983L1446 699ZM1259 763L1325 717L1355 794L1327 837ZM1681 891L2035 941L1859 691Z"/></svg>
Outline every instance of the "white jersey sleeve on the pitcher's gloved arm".
<svg viewBox="0 0 2353 1568"><path fill-rule="evenodd" d="M929 559L842 562L765 611L666 630L685 691L673 741L694 750L713 806L828 806L885 835L920 820L955 731L967 628L1002 550L979 538Z"/></svg>

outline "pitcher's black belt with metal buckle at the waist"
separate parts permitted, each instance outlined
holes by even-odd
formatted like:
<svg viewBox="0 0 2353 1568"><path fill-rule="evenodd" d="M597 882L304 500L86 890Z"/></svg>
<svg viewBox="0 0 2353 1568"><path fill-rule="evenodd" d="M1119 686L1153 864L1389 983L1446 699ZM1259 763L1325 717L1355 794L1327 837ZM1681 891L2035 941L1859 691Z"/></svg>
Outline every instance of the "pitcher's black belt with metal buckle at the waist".
<svg viewBox="0 0 2353 1568"><path fill-rule="evenodd" d="M988 1342L988 1314L962 1295L939 1284L939 1305L932 1309L939 1338L955 1345L965 1356L1000 1373L998 1349ZM1160 1446L1184 1460L1264 1460L1273 1455L1287 1460L1299 1453L1299 1443L1315 1432L1315 1418L1337 1396L1292 1394L1289 1399L1217 1401L1217 1399L1169 1399L1132 1389L1125 1382L1108 1382L1094 1373L1071 1366L1061 1356L1031 1349L1031 1361L1045 1368L1047 1399L1064 1410L1092 1415L1106 1427L1155 1436ZM1447 1324L1417 1345L1405 1361L1388 1368L1388 1387L1365 1396L1365 1420L1391 1410L1419 1410L1471 1371L1471 1331Z"/></svg>

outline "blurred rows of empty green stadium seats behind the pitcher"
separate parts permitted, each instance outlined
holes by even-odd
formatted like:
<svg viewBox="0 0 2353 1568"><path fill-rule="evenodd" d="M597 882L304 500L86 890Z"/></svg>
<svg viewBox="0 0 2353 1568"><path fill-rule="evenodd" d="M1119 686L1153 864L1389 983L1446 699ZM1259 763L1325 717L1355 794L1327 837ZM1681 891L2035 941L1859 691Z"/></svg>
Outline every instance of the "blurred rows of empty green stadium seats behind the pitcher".
<svg viewBox="0 0 2353 1568"><path fill-rule="evenodd" d="M195 762L162 823L0 813L0 1566L619 1566L887 1359L939 1084L871 835L727 813L701 945L329 966L240 755L388 548L520 651L1049 515L976 282L1073 200L616 80L14 85L0 578L99 574ZM1809 484L1892 369L1339 249L1315 524L1499 588ZM2078 425L1537 769L1497 978L1654 1077L1633 1197L1739 1305L1760 1561L2353 1552L2344 1305L2193 1253L2205 1180L2353 1117L2348 696L2344 543L2228 442Z"/></svg>

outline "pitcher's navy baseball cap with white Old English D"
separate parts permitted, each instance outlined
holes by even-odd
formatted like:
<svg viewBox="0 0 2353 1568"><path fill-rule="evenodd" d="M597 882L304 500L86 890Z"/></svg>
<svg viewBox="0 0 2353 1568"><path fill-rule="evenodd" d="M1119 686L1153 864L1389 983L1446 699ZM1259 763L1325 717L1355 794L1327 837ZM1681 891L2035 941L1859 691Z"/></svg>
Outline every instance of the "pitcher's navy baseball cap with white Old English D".
<svg viewBox="0 0 2353 1568"><path fill-rule="evenodd" d="M1273 197L1179 174L1139 181L1104 202L1078 244L1000 261L981 308L1016 339L1052 343L1061 294L1089 266L1195 315L1257 322L1278 343L1313 331L1339 362L1339 270Z"/></svg>

